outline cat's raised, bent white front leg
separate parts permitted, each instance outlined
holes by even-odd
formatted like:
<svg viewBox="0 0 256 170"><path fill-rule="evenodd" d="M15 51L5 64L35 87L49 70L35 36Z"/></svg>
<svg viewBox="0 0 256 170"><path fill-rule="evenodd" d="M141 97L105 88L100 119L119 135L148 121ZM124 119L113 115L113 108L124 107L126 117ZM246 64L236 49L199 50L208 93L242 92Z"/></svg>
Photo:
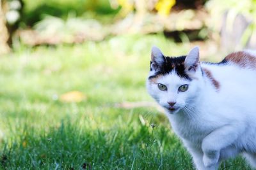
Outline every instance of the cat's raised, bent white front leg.
<svg viewBox="0 0 256 170"><path fill-rule="evenodd" d="M225 125L208 134L202 141L205 167L218 164L220 150L234 143L241 132L243 132L243 127L237 129L237 125Z"/></svg>

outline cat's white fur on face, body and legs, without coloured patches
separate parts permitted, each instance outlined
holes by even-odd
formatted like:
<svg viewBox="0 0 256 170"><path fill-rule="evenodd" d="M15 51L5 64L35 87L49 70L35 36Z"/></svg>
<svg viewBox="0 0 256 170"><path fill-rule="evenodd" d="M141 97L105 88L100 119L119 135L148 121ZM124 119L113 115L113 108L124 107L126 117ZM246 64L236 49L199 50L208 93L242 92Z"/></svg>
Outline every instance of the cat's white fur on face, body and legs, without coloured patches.
<svg viewBox="0 0 256 170"><path fill-rule="evenodd" d="M201 69L196 69L192 81L174 72L156 83L147 81L149 94L166 110L173 131L191 153L196 169L218 169L221 160L239 153L256 167L256 66L246 69L236 64L201 62L199 67L211 71L220 83L219 90ZM159 90L157 83L168 90ZM188 90L179 92L184 84L189 85ZM168 102L177 102L179 109L169 111Z"/></svg>

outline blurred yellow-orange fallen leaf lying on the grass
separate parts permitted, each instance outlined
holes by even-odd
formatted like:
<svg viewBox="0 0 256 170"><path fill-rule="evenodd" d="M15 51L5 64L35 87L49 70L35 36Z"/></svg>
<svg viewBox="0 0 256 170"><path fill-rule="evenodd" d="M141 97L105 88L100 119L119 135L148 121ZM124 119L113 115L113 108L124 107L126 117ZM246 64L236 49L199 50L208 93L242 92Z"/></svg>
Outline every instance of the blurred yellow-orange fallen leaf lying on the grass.
<svg viewBox="0 0 256 170"><path fill-rule="evenodd" d="M60 96L60 101L65 103L73 103L73 102L77 103L77 102L83 101L84 99L86 99L86 96L83 94L83 92L79 92L79 91L67 92Z"/></svg>

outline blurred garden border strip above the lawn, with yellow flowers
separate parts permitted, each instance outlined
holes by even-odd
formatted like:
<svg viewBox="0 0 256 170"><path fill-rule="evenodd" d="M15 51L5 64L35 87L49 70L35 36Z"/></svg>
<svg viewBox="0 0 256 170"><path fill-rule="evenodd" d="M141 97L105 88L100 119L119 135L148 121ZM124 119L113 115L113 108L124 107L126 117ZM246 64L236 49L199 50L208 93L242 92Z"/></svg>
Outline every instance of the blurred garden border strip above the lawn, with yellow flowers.
<svg viewBox="0 0 256 170"><path fill-rule="evenodd" d="M2 0L0 52L128 34L162 34L208 53L255 48L254 8L253 0Z"/></svg>

